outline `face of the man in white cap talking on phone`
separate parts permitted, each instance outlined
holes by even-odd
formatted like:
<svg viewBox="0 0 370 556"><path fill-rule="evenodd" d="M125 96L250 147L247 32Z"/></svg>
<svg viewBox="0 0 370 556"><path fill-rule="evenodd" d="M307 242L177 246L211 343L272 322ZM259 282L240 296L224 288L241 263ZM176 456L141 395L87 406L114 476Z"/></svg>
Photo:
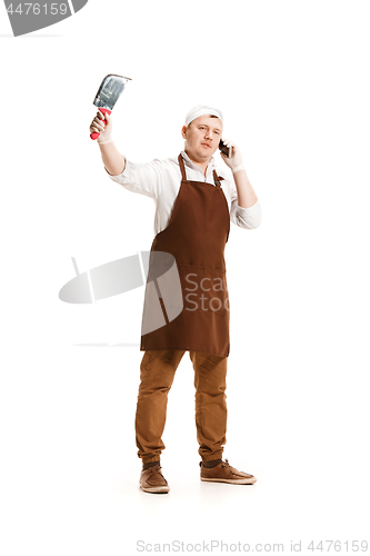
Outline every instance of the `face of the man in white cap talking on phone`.
<svg viewBox="0 0 370 556"><path fill-rule="evenodd" d="M218 149L221 135L222 121L219 118L199 116L182 128L184 151L194 162L207 162Z"/></svg>

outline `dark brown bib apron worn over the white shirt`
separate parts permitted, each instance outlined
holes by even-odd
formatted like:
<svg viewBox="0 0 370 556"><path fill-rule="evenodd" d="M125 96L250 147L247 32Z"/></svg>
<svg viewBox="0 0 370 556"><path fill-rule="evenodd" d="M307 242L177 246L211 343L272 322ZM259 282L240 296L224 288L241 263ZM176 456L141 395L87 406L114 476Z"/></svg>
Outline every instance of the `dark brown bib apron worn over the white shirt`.
<svg viewBox="0 0 370 556"><path fill-rule="evenodd" d="M174 257L173 267L176 269L177 266L179 287L181 284L182 290L181 306L178 316L171 319L173 307L166 301L166 281L158 288L154 280L166 324L148 334L144 332L146 314L158 311L153 305L150 306L149 282L153 280L153 276L164 276L171 266L169 260L167 266L166 260L163 262L161 259L161 268L154 269L156 262L150 261L140 350L183 349L227 357L230 351L229 296L223 254L230 231L230 214L220 185L223 178L219 178L213 170L216 186L204 181L189 181L181 155L179 163L182 175L180 190L170 221L167 228L156 236L150 255L154 257L156 251L161 251L163 256L169 254L170 259L171 256ZM172 286L174 287L174 282Z"/></svg>

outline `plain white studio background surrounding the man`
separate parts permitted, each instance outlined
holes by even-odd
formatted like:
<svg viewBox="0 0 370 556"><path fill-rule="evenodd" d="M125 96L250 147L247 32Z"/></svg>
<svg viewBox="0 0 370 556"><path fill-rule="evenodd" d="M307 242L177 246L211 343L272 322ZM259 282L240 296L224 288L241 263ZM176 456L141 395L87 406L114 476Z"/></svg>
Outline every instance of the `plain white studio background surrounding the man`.
<svg viewBox="0 0 370 556"><path fill-rule="evenodd" d="M2 554L367 538L369 16L357 0L90 0L12 38L0 9ZM191 106L216 105L260 199L261 226L232 226L226 249L224 455L252 487L199 480L186 354L163 438L171 492L141 493L142 353L76 344L139 344L142 288L59 300L71 257L84 271L153 239L153 202L112 182L89 138L108 73L132 78L113 112L131 160L177 156Z"/></svg>

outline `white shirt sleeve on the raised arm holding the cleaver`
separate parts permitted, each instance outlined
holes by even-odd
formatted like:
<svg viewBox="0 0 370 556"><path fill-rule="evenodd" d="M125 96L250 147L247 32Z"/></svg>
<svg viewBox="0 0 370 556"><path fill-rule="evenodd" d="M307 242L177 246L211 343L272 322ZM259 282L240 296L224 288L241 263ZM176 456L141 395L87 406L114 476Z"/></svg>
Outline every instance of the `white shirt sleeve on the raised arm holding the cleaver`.
<svg viewBox="0 0 370 556"><path fill-rule="evenodd" d="M110 179L120 183L124 189L134 193L146 195L151 199L158 199L160 189L160 165L159 160L153 160L147 163L130 162L122 155L126 160L126 168L122 173L112 176L108 172Z"/></svg>

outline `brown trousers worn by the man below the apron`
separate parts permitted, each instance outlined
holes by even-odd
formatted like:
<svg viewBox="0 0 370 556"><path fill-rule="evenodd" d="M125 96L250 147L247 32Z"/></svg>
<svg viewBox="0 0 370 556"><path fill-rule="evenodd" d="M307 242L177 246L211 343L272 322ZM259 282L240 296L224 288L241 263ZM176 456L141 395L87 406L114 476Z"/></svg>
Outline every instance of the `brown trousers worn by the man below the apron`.
<svg viewBox="0 0 370 556"><path fill-rule="evenodd" d="M164 449L168 393L184 351L146 351L140 365L140 386L136 414L138 456L143 464L159 461ZM204 461L220 459L226 443L227 357L189 351L194 368L196 425L199 455Z"/></svg>

